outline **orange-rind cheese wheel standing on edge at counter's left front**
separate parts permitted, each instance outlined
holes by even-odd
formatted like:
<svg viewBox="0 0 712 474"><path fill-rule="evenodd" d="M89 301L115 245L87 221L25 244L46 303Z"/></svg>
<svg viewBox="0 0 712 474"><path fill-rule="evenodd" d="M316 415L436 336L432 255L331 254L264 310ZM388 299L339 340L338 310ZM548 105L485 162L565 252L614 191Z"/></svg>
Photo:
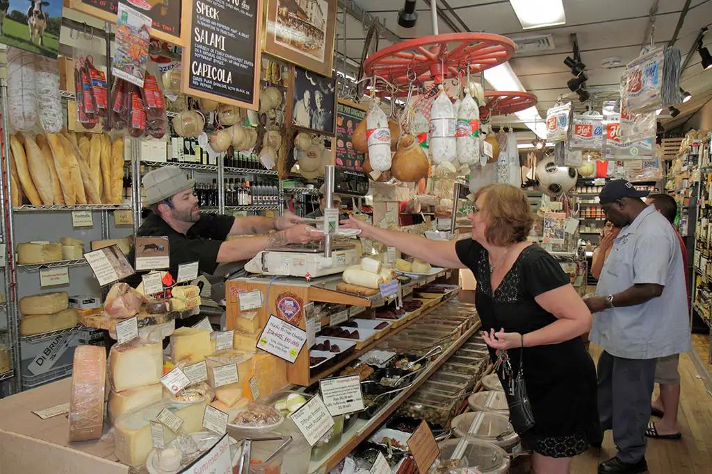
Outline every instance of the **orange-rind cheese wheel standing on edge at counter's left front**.
<svg viewBox="0 0 712 474"><path fill-rule="evenodd" d="M80 345L74 351L69 401L69 441L101 438L104 424L106 350Z"/></svg>

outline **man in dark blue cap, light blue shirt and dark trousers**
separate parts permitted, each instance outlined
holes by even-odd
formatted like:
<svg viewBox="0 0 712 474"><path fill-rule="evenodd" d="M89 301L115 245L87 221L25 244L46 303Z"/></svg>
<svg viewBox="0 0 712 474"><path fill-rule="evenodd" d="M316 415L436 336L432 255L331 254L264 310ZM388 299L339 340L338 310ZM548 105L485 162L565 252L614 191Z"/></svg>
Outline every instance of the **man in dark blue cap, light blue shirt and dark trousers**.
<svg viewBox="0 0 712 474"><path fill-rule="evenodd" d="M600 345L598 406L602 428L613 430L616 456L600 474L643 473L645 430L658 357L691 349L680 244L669 222L646 205L648 195L626 180L599 195L603 211L622 227L601 271L590 339Z"/></svg>

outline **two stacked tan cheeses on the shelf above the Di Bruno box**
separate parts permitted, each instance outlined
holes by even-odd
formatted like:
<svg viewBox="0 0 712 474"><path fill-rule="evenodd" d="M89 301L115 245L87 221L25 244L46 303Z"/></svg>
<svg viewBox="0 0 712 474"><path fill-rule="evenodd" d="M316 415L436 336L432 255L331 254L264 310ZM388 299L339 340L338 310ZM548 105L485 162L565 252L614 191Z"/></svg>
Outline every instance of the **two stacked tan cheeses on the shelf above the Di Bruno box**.
<svg viewBox="0 0 712 474"><path fill-rule="evenodd" d="M69 308L65 291L20 298L20 334L36 335L72 328L79 322L75 309Z"/></svg>

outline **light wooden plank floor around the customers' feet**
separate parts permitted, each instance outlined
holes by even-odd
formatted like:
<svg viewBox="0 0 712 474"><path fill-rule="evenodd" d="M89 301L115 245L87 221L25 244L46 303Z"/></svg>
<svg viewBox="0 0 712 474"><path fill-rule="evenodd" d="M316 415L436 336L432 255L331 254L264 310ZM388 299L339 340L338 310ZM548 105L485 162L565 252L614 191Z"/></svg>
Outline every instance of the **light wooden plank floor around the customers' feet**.
<svg viewBox="0 0 712 474"><path fill-rule="evenodd" d="M591 345L594 360L599 348ZM706 359L703 359L706 360ZM712 396L693 367L687 354L680 357L681 401L678 425L682 432L679 441L648 440L646 460L650 474L710 474L712 473ZM598 464L616 453L612 434L600 449L591 448L575 458L572 474L595 474Z"/></svg>

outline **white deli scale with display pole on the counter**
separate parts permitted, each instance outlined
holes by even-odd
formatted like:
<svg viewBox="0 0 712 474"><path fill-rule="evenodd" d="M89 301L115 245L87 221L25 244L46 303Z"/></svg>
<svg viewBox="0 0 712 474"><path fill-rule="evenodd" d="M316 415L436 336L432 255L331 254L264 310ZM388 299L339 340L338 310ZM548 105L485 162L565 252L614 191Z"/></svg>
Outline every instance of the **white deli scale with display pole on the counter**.
<svg viewBox="0 0 712 474"><path fill-rule="evenodd" d="M339 179L335 179L338 175ZM336 183L336 184L335 184ZM355 239L338 235L338 208L333 206L333 194L362 197L368 192L368 178L359 171L326 166L326 208L322 230L324 239L308 244L287 244L265 249L245 265L246 271L265 275L317 278L342 273L360 261L360 244ZM336 225L335 225L336 222ZM352 232L350 232L351 234ZM357 235L357 233L352 233Z"/></svg>

